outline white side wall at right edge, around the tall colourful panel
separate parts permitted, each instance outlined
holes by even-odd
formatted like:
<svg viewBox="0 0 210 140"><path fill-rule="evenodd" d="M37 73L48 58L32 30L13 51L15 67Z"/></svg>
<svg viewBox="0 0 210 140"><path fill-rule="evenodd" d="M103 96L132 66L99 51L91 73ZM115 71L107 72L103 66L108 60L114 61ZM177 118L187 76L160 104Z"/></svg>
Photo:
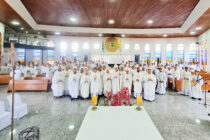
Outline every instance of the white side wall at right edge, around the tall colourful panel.
<svg viewBox="0 0 210 140"><path fill-rule="evenodd" d="M207 71L210 72L210 29L198 37L199 42L207 41Z"/></svg>

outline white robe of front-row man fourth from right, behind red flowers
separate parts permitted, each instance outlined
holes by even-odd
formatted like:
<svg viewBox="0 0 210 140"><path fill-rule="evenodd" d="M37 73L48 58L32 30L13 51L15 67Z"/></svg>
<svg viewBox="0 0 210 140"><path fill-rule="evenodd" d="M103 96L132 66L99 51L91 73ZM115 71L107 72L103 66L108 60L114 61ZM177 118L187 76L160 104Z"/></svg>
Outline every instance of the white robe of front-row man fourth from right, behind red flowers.
<svg viewBox="0 0 210 140"><path fill-rule="evenodd" d="M111 73L112 79L112 92L113 94L117 94L120 91L120 75L119 72L113 71Z"/></svg>

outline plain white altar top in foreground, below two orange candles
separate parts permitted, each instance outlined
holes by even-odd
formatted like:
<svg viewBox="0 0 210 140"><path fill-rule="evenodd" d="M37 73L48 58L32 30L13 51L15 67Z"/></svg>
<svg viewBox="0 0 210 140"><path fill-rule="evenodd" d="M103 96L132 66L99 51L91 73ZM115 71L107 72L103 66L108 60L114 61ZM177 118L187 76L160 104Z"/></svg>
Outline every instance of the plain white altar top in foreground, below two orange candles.
<svg viewBox="0 0 210 140"><path fill-rule="evenodd" d="M102 107L85 115L76 140L163 140L146 110L135 106Z"/></svg>

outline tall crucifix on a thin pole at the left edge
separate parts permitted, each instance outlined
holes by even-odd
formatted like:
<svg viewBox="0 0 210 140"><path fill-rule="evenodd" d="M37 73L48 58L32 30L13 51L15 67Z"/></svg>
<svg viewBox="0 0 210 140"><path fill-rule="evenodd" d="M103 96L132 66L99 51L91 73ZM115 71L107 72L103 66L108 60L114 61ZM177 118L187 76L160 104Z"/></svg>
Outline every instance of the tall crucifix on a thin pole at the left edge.
<svg viewBox="0 0 210 140"><path fill-rule="evenodd" d="M13 128L14 128L14 93L15 93L15 46L14 43L10 44L11 51L8 53L3 53L3 56L11 56L12 61L12 117L11 117L11 140L13 140Z"/></svg>

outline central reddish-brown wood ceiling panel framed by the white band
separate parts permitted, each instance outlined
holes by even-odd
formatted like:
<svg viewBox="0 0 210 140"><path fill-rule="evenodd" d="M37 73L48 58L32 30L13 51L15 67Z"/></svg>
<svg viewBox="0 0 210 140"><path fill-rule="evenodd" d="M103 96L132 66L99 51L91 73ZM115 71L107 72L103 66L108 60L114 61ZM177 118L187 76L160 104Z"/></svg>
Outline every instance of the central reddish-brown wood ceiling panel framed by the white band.
<svg viewBox="0 0 210 140"><path fill-rule="evenodd" d="M199 0L21 1L38 24L141 29L181 27L199 2ZM78 23L71 23L71 17L77 18ZM109 19L114 19L115 24L109 25ZM154 24L148 25L147 20L153 20Z"/></svg>

